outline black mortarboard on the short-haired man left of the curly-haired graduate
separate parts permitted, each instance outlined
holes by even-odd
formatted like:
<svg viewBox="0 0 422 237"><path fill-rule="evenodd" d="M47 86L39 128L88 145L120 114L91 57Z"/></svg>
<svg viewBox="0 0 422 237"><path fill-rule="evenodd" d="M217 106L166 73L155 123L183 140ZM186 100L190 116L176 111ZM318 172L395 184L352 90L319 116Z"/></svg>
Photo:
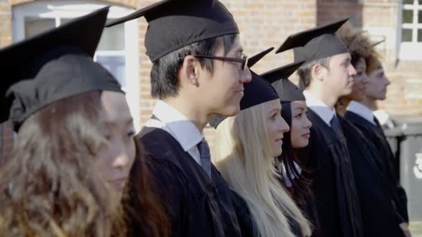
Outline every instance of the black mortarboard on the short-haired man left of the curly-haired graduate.
<svg viewBox="0 0 422 237"><path fill-rule="evenodd" d="M347 20L343 19L326 26L290 35L276 53L294 49L294 61L304 61L305 64L333 55L348 53L346 45L335 35L335 32Z"/></svg>

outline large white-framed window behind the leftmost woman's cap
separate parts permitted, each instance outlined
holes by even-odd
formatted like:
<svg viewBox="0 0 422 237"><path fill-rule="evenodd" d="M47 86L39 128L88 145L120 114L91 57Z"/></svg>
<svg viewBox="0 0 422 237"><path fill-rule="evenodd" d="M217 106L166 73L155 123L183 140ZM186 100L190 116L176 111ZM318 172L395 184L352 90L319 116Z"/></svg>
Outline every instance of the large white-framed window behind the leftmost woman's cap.
<svg viewBox="0 0 422 237"><path fill-rule="evenodd" d="M57 27L72 18L86 15L108 4L101 1L36 1L13 7L13 41L19 42L49 28ZM133 12L120 6L112 6L108 20ZM94 60L103 65L119 80L135 121L140 129L139 78L138 78L137 21L128 21L103 30Z"/></svg>

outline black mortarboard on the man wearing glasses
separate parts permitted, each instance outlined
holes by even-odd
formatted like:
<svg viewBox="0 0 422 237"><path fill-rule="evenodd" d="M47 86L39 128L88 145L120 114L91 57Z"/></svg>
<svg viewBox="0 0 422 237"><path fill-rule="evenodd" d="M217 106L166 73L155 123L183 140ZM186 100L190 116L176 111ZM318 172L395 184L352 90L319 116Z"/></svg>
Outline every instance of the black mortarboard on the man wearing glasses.
<svg viewBox="0 0 422 237"><path fill-rule="evenodd" d="M233 15L218 0L159 1L107 26L139 17L148 21L145 48L151 62L201 40L239 33Z"/></svg>

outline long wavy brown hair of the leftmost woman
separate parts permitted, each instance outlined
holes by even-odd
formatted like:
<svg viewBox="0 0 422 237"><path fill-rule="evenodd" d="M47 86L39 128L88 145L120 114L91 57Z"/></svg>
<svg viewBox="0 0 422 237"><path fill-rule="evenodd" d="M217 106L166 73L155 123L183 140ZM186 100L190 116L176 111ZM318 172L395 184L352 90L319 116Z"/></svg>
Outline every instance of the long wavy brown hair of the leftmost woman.
<svg viewBox="0 0 422 237"><path fill-rule="evenodd" d="M100 96L101 91L70 96L24 121L12 157L0 168L0 236L128 234L128 218L134 216L111 197L110 186L93 164L105 141L98 122ZM140 156L135 166L142 167ZM147 174L134 185L142 207L137 211L145 212L138 212L145 214L141 220L153 220L140 223L142 227L153 229L150 236L159 236L157 229L162 227L166 234L167 225L162 205L145 182Z"/></svg>

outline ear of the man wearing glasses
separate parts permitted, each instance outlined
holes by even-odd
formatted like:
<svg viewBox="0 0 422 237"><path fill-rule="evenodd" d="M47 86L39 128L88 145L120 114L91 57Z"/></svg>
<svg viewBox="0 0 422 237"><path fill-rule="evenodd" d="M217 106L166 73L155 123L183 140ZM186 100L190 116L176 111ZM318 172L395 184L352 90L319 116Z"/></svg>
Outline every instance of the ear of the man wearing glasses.
<svg viewBox="0 0 422 237"><path fill-rule="evenodd" d="M195 87L199 86L199 72L198 69L199 64L198 60L192 55L187 55L183 59L182 66L179 70L179 80L180 85L194 85Z"/></svg>

